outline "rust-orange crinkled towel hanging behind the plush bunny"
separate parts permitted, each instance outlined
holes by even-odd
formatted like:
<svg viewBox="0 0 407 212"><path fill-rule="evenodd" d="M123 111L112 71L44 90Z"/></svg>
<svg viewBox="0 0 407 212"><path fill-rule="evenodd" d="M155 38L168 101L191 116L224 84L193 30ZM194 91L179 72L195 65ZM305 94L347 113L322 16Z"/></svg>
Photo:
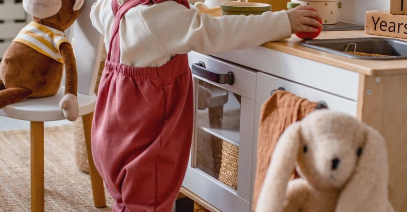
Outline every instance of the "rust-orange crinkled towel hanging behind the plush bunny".
<svg viewBox="0 0 407 212"><path fill-rule="evenodd" d="M262 189L270 159L280 135L292 123L315 110L317 103L297 97L285 90L276 90L263 104L257 140L256 177L254 181L253 210Z"/></svg>

